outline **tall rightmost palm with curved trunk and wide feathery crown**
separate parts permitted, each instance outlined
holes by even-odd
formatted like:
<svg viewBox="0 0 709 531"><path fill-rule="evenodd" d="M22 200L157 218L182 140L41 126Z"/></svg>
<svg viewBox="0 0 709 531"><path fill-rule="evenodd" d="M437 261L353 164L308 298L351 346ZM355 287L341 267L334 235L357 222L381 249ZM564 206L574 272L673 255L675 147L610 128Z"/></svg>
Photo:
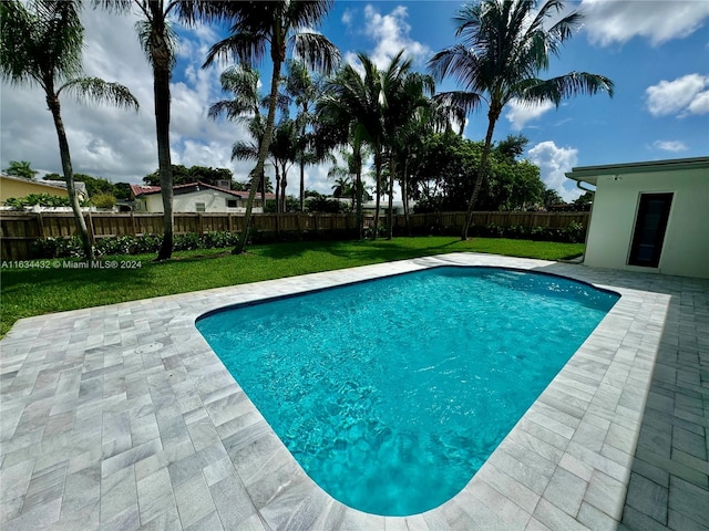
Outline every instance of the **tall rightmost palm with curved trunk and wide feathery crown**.
<svg viewBox="0 0 709 531"><path fill-rule="evenodd" d="M462 42L438 52L429 61L436 80L449 75L464 87L446 93L450 101L462 101L466 108L487 103L487 132L475 186L467 204L462 239L467 238L473 208L480 192L492 149L495 124L504 106L512 100L531 104L552 102L577 94L607 92L613 96L613 82L598 74L571 72L542 80L540 73L549 66L549 55L558 55L562 44L579 28L582 13L574 11L546 28L552 17L564 9L562 0L537 1L483 0L464 6L455 17L455 35Z"/></svg>

